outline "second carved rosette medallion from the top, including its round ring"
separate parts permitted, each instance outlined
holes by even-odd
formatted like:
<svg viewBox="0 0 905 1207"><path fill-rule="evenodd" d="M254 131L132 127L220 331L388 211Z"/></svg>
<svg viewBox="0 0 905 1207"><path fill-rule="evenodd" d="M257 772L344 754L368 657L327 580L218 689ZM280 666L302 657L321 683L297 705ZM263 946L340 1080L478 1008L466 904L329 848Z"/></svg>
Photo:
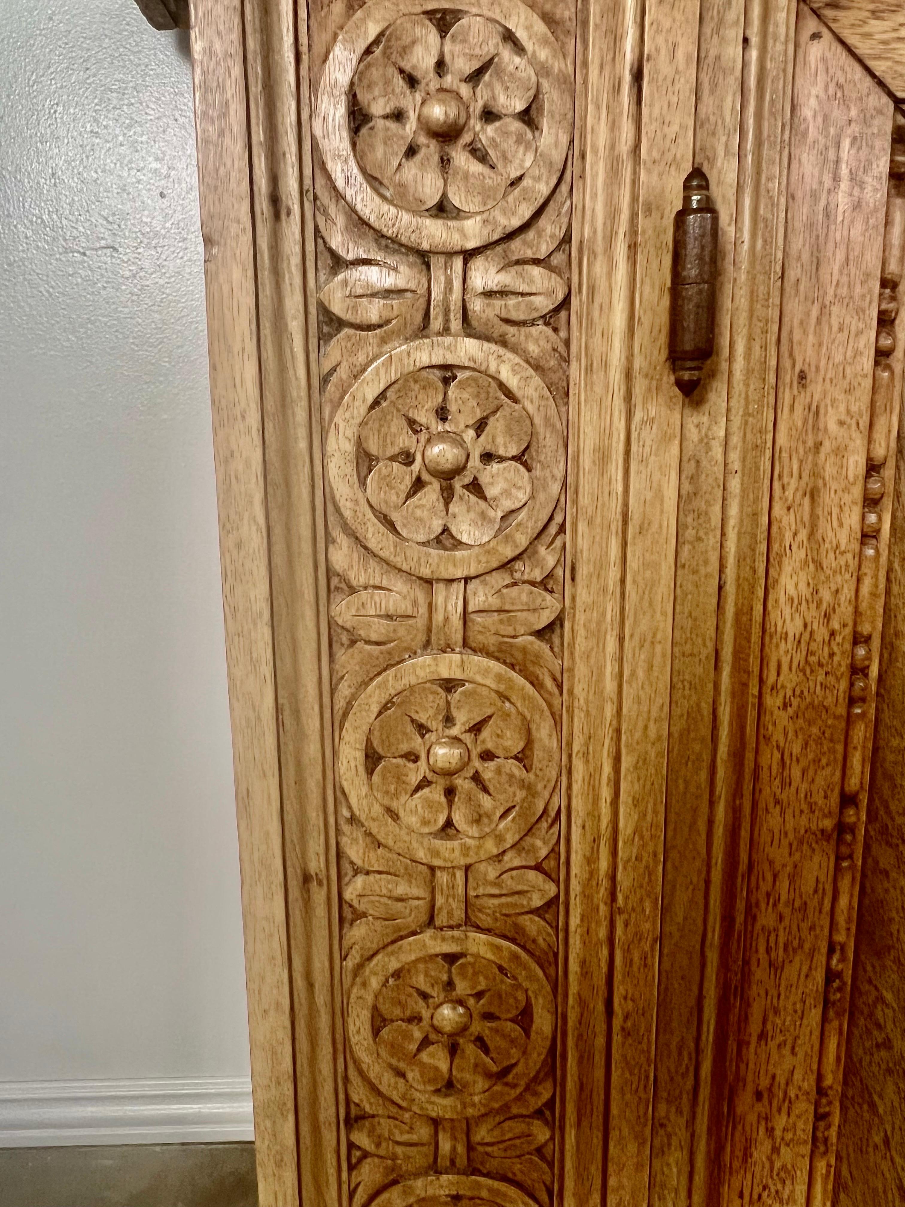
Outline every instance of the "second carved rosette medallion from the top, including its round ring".
<svg viewBox="0 0 905 1207"><path fill-rule="evenodd" d="M424 578L465 578L537 536L566 451L533 369L484 340L437 336L358 378L331 426L327 468L368 548Z"/></svg>

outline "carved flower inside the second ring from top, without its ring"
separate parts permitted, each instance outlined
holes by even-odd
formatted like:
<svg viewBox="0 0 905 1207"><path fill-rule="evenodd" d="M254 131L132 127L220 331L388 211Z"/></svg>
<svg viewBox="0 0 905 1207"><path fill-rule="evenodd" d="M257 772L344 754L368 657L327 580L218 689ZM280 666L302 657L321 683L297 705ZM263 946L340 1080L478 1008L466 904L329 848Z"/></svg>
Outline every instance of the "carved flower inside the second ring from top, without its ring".
<svg viewBox="0 0 905 1207"><path fill-rule="evenodd" d="M484 373L460 371L448 387L426 369L409 373L361 424L361 445L376 460L368 501L408 540L445 529L483 544L531 497L531 474L512 460L530 439L527 412Z"/></svg>

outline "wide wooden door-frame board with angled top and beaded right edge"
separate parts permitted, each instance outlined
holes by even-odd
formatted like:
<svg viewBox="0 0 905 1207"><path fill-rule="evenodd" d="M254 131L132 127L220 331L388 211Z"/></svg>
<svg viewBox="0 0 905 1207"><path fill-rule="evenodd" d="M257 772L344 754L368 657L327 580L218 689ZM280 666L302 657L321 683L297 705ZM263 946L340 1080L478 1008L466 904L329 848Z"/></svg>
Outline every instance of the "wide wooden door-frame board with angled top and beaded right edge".
<svg viewBox="0 0 905 1207"><path fill-rule="evenodd" d="M802 5L734 1203L831 1201L903 389L904 135L886 91Z"/></svg>

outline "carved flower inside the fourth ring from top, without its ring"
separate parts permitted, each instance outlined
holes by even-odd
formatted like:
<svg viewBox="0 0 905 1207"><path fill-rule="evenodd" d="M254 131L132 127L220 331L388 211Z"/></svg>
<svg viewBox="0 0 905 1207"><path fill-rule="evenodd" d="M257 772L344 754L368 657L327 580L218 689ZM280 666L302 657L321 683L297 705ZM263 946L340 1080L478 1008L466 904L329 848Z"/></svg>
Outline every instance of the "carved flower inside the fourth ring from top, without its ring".
<svg viewBox="0 0 905 1207"><path fill-rule="evenodd" d="M376 995L387 1025L376 1037L383 1059L416 1090L449 1085L483 1094L525 1051L515 1019L527 993L483 956L440 956L405 964Z"/></svg>

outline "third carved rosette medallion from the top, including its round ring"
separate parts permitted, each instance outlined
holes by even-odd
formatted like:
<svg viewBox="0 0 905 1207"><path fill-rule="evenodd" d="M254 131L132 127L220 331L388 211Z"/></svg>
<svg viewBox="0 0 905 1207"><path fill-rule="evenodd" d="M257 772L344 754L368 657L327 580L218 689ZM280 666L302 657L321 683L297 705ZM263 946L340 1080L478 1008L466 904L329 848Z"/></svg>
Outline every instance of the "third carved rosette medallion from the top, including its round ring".
<svg viewBox="0 0 905 1207"><path fill-rule="evenodd" d="M356 816L390 850L462 868L514 845L559 769L549 709L521 676L474 654L401 663L352 706L339 774Z"/></svg>

